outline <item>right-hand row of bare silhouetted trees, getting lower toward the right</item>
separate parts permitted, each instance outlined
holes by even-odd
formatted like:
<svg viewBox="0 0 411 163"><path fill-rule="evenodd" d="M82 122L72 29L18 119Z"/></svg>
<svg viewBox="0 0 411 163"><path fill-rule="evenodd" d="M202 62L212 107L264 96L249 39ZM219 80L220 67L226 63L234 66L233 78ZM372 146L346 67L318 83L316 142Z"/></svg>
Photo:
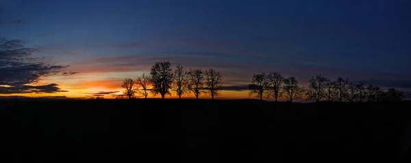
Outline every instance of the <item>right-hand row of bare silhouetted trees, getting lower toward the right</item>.
<svg viewBox="0 0 411 163"><path fill-rule="evenodd" d="M378 86L364 86L361 82L349 82L348 79L338 77L332 81L322 75L311 77L308 88L299 86L295 77L282 77L279 73L256 73L249 84L249 95L263 98L285 97L292 102L295 99L307 99L310 101L401 101L403 92L389 88L383 91Z"/></svg>

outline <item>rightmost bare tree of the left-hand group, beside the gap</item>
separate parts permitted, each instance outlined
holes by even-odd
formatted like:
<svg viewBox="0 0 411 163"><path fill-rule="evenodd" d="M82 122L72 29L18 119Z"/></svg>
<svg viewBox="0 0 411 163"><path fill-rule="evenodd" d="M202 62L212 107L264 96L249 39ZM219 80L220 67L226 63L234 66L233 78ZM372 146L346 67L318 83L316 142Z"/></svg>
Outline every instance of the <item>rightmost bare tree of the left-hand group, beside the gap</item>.
<svg viewBox="0 0 411 163"><path fill-rule="evenodd" d="M206 70L206 89L213 100L214 96L217 97L220 95L221 73L219 71L215 71L213 68Z"/></svg>

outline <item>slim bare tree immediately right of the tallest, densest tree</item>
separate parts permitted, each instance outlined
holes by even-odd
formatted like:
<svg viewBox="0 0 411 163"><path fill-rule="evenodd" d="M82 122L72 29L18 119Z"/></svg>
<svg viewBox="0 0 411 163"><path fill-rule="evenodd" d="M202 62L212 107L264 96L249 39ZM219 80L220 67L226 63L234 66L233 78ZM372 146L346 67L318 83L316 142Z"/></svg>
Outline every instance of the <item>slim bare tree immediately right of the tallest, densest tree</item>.
<svg viewBox="0 0 411 163"><path fill-rule="evenodd" d="M188 73L183 66L177 65L174 70L174 87L178 98L182 99L182 95L188 91Z"/></svg>

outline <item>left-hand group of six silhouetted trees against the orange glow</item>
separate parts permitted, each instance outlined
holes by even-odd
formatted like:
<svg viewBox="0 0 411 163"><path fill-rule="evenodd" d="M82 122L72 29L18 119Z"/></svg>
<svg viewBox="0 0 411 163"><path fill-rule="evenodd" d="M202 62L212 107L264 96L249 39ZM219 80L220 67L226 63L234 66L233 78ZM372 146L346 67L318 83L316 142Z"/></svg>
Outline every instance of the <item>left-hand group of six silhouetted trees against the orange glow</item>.
<svg viewBox="0 0 411 163"><path fill-rule="evenodd" d="M166 95L171 95L171 91L177 93L179 99L183 95L199 95L206 93L212 99L220 95L222 75L213 68L203 71L201 69L189 69L177 65L171 68L170 62L156 62L152 67L150 74L143 73L137 79L124 79L122 88L124 95L128 99L133 99L138 93L147 99L149 93L161 95L162 99Z"/></svg>

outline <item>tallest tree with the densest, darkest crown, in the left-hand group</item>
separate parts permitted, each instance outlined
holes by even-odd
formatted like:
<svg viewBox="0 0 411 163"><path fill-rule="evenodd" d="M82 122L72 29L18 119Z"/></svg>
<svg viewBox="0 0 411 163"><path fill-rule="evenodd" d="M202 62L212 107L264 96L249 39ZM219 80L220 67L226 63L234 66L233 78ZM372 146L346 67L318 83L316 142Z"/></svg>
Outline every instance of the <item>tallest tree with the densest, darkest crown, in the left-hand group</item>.
<svg viewBox="0 0 411 163"><path fill-rule="evenodd" d="M171 72L170 62L156 62L151 66L151 84L153 89L151 90L154 95L161 95L164 99L165 95L171 95L170 89L173 84L173 73Z"/></svg>

